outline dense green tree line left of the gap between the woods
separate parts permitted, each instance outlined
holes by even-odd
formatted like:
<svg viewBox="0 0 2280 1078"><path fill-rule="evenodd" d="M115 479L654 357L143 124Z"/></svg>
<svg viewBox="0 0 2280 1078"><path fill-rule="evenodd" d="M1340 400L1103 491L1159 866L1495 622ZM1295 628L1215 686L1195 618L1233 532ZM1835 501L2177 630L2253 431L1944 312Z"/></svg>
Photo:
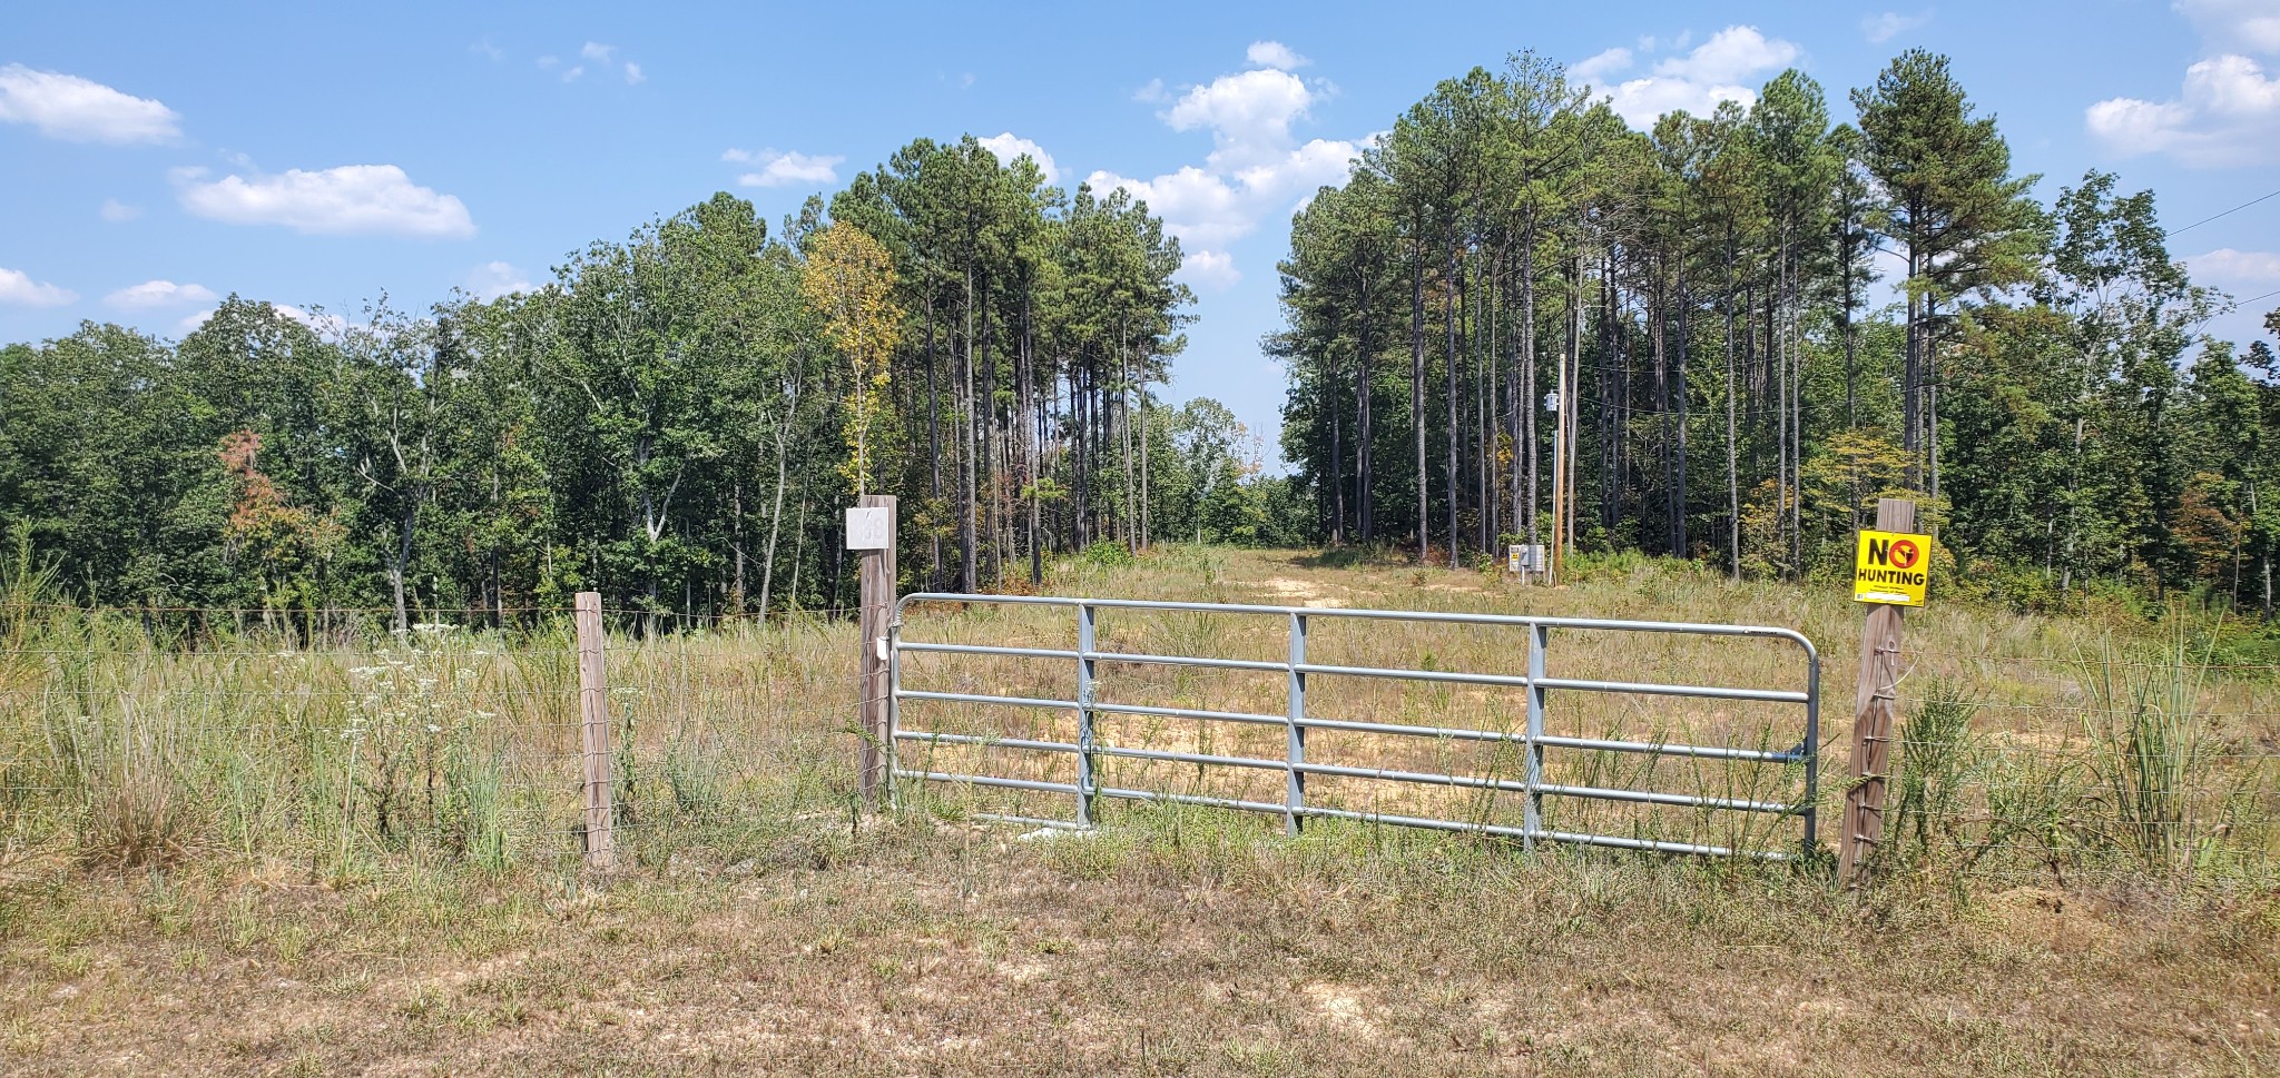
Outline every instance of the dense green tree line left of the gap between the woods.
<svg viewBox="0 0 2280 1078"><path fill-rule="evenodd" d="M903 495L905 588L1270 540L1284 485L1158 390L1192 296L1124 191L919 139L771 230L730 194L538 289L178 342L0 349L0 529L75 602L515 622L602 590L734 615L853 599L839 506Z"/></svg>

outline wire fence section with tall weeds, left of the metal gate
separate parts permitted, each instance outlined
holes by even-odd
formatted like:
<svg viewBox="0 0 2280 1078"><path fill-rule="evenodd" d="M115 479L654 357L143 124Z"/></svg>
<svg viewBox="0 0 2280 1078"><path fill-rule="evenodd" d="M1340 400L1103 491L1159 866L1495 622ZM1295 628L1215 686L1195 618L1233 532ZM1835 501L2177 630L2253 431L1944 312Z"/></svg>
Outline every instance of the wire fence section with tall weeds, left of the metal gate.
<svg viewBox="0 0 2280 1078"><path fill-rule="evenodd" d="M0 834L112 864L577 864L570 611L522 613L390 631L392 611L331 611L310 631L258 611L0 611ZM606 615L613 823L636 864L846 795L853 677L830 611Z"/></svg>

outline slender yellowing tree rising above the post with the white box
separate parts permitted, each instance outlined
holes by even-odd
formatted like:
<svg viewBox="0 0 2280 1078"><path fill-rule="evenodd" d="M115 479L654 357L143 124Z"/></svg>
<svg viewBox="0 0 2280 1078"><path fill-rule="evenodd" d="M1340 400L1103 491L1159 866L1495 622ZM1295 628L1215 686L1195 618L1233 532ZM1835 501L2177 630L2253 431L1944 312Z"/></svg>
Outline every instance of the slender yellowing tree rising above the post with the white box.
<svg viewBox="0 0 2280 1078"><path fill-rule="evenodd" d="M848 460L841 474L866 495L882 456L871 424L887 408L887 376L903 310L894 305L894 260L846 221L816 232L800 269L800 299L823 319L823 337L855 374L846 397Z"/></svg>

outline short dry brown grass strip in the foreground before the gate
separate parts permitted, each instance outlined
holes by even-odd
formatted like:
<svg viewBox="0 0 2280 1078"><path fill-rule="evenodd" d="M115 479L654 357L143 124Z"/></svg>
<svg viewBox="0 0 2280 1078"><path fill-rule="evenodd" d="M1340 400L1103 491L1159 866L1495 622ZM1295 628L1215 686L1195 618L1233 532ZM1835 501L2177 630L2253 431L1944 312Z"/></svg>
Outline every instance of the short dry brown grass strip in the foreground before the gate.
<svg viewBox="0 0 2280 1078"><path fill-rule="evenodd" d="M87 880L11 912L0 1069L2273 1073L2275 955L2271 898L907 827L606 891Z"/></svg>

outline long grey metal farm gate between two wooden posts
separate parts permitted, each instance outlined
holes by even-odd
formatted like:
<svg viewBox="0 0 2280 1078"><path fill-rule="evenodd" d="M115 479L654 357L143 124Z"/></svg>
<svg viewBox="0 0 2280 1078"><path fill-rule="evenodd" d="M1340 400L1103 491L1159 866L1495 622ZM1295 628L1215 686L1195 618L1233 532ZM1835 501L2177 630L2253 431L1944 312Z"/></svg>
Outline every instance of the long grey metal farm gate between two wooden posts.
<svg viewBox="0 0 2280 1078"><path fill-rule="evenodd" d="M912 640L905 636L905 615L912 609L955 606L962 618L946 618L944 629L964 629L974 643ZM1067 622L1058 613L1067 611ZM1215 636L1218 624L1233 622L1249 631L1247 643L1256 654L1286 654L1279 659L1224 659L1202 652L1204 647L1158 647L1158 650L1101 650L1104 615L1110 620L1133 618L1183 618L1190 636ZM933 622L933 620L930 620ZM1279 624L1277 624L1279 622ZM1402 624L1450 624L1464 634L1509 631L1516 652L1525 640L1525 672L1468 672L1439 670L1430 652L1411 659L1418 668L1336 665L1309 661L1309 627L1320 636L1325 622L1359 634L1393 634ZM1058 624L1058 627L1056 627ZM1031 636L1067 634L1072 647L1026 647L1005 643L1028 629ZM1423 631L1423 629L1418 629ZM1573 654L1619 665L1630 672L1646 665L1644 656L1655 640L1683 638L1753 638L1774 647L1797 645L1790 659L1767 656L1767 670L1790 670L1781 686L1705 686L1653 679L1610 677L1553 677L1548 672L1555 636L1589 636L1587 645L1571 645ZM1320 606L1227 606L1188 602L1138 602L1138 599L1072 599L1072 597L1017 597L1017 595L944 595L919 593L903 597L894 609L887 631L887 770L896 786L928 789L928 793L964 789L1010 798L1017 805L999 811L974 811L976 818L1015 820L1044 827L1092 827L1099 818L1099 802L1131 800L1158 805L1199 805L1215 809L1256 811L1281 816L1288 832L1309 818L1363 820L1400 827L1432 827L1446 832L1480 832L1518 839L1528 846L1537 841L1617 846L1632 850L1662 850L1689 855L1749 855L1783 859L1799 850L1815 850L1815 770L1819 754L1819 656L1813 640L1790 629L1744 627L1744 624L1678 624L1678 622L1630 622L1587 618L1530 618L1493 613L1432 613L1432 611L1368 611L1368 609L1320 609ZM985 643L990 640L990 643ZM1375 643L1384 647L1384 636ZM1694 645L1687 645L1694 647ZM1762 647L1762 645L1760 645ZM1498 652L1509 654L1509 652ZM1571 652L1562 652L1571 654ZM1676 652L1676 643L1664 647L1667 665L1685 668L1689 661ZM905 684L914 675L912 665L923 659L921 681L926 688ZM1044 663L1042 672L1040 665ZM962 670L964 665L964 670ZM971 670L983 665L987 670ZM1487 663L1482 663L1487 665ZM1498 663L1503 665L1503 663ZM1512 663L1518 665L1518 663ZM1117 677L1104 677L1104 668L1133 670L1119 675L1140 679L1147 670L1202 670L1247 672L1249 677L1279 679L1279 686L1252 686L1254 702L1265 702L1249 711L1172 707L1163 702L1108 700L1106 688L1117 686ZM1021 675L1021 670L1031 670ZM1680 670L1687 672L1687 670ZM1069 679L1074 675L1074 693ZM1033 695L1017 695L1017 688ZM1325 686L1357 681L1393 681L1400 686L1443 688L1384 688L1398 693L1441 693L1448 702L1448 686L1466 688L1475 707L1509 707L1491 693L1518 693L1523 707L1509 711L1505 722L1441 725L1441 722L1393 722L1384 713L1318 713L1309 707L1309 681ZM1701 681L1694 672L1689 679ZM948 681L948 684L942 684ZM1015 688L1015 691L1008 691ZM992 688L990 693L978 688ZM1161 684L1158 684L1161 688ZM1560 716L1553 709L1553 693L1628 695L1651 704L1626 704L1626 716L1646 720L1676 713L1674 700L1715 709L1708 725L1715 734L1683 743L1669 736L1585 736L1589 732L1546 732L1546 718ZM1172 693L1181 695L1181 693ZM1192 695L1192 693L1190 693ZM1407 697L1404 697L1407 700ZM1582 697L1573 697L1582 700ZM1281 713L1272 702L1279 702ZM914 709L914 704L919 704ZM1452 707L1452 704L1450 704ZM1765 722L1737 725L1733 713L1742 707L1769 709L1776 716ZM912 711L953 711L964 718L962 729L919 729ZM1801 716L1797 713L1801 711ZM1042 716L1008 722L1012 716ZM1113 720L1149 720L1154 727L1133 732L1129 738L1104 736L1104 725ZM1042 727L1040 727L1042 722ZM1179 727L1167 727L1176 722ZM1614 720L1607 720L1614 725ZM1015 727L1008 732L1008 725ZM1249 732L1249 752L1215 750L1215 738L1243 741L1240 736L1213 734L1215 729ZM1498 729L1503 727L1503 729ZM1275 736L1279 732L1281 736ZM1338 734L1357 738L1368 759L1329 761L1309 757L1309 734L1322 738ZM1361 741L1359 736L1368 736ZM1165 748L1165 741L1199 741L1197 748ZM1318 738L1320 741L1320 738ZM1696 738L1687 738L1696 741ZM1441 745L1404 750L1402 745ZM1443 759L1459 752L1468 757L1471 770L1455 763L1432 768L1384 766L1386 757L1404 752L1441 752ZM1487 761L1477 754L1489 752ZM1498 754L1503 752L1503 754ZM1516 759L1509 759L1516 752ZM948 759L942 759L948 757ZM1566 759L1623 757L1626 763L1564 763ZM1067 766L1074 761L1074 773ZM1398 759L1393 759L1398 763ZM1674 763L1689 773L1692 791L1685 789L1637 789L1646 779L1667 779L1658 761ZM1131 782L1113 775L1113 768L1147 770L1149 782ZM1176 766L1176 768L1161 768ZM1637 768L1610 782L1607 773L1623 766ZM1272 793L1272 773L1281 775L1279 798ZM1744 775L1756 773L1756 775ZM1172 782L1172 775L1179 782ZM1229 775L1231 779L1222 779ZM1240 789L1249 777L1249 791ZM1347 791L1368 789L1373 793L1354 798L1309 795L1309 779L1318 784L1343 782ZM928 786L933 784L933 786ZM1393 786L1377 786L1393 784ZM1174 789L1186 786L1186 789ZM1400 805L1382 805L1379 789L1400 789ZM1051 807L1069 798L1067 816ZM1566 805L1578 805L1566 811ZM1585 809L1589 807L1589 811ZM1628 809L1619 809L1628 807ZM1660 818L1594 818L1591 811L1662 814ZM1712 818L1749 816L1758 823L1749 827L1724 827L1705 823ZM1569 823L1575 816L1578 823ZM1783 839L1781 832L1794 834ZM1717 836L1731 836L1710 841Z"/></svg>

